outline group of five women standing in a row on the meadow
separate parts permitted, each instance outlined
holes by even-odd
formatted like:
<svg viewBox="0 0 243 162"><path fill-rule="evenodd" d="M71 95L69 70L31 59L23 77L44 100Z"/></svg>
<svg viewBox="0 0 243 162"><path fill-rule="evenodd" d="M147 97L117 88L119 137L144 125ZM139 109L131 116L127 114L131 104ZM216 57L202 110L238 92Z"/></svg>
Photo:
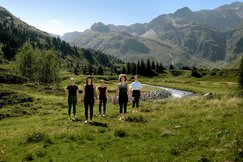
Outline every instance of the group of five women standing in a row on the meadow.
<svg viewBox="0 0 243 162"><path fill-rule="evenodd" d="M142 88L141 83L138 81L138 76L134 77L134 82L129 86L127 84L127 77L125 74L121 74L119 76L120 83L116 87L116 94L114 99L118 100L120 106L120 118L119 120L126 118L127 113L127 104L128 97L132 97L132 107L139 108L139 99L140 99L140 90ZM93 83L93 78L88 76L86 78L86 84L83 86L83 99L84 99L84 108L85 108L85 121L84 123L88 123L88 114L90 114L90 123L92 123L93 118L93 108L94 102L98 99L99 102L99 113L100 116L105 116L106 113L106 103L109 97L108 89L105 85L104 80L100 81L100 86L98 87L98 93L96 92L96 86ZM68 98L68 119L71 119L71 109L73 108L73 120L76 120L76 105L81 102L82 96L79 93L78 86L75 85L74 78L70 79L70 85L66 89L66 95L64 101ZM102 113L103 106L103 113ZM89 113L88 113L89 111ZM133 112L138 112L136 109Z"/></svg>

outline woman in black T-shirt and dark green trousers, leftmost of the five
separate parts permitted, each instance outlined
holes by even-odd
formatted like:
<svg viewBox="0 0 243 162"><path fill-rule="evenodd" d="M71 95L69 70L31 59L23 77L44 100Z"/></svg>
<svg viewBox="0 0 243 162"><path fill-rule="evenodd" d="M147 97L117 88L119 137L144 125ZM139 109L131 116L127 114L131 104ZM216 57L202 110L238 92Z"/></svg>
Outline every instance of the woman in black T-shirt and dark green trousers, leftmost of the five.
<svg viewBox="0 0 243 162"><path fill-rule="evenodd" d="M73 120L76 120L76 105L77 97L79 97L78 86L75 85L74 78L70 79L70 85L66 89L66 96L64 101L68 97L68 119L71 119L71 109L73 106Z"/></svg>

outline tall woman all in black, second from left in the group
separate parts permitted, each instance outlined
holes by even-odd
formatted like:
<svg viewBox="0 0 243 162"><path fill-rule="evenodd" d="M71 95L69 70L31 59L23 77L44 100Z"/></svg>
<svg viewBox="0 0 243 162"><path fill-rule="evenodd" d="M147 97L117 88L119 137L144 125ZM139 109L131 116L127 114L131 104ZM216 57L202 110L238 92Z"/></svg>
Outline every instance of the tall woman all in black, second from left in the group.
<svg viewBox="0 0 243 162"><path fill-rule="evenodd" d="M85 122L84 123L88 123L89 107L90 107L90 123L92 123L96 87L95 87L95 85L93 85L93 79L91 76L88 76L86 78L86 84L83 86L83 94L84 94L84 108L85 108Z"/></svg>

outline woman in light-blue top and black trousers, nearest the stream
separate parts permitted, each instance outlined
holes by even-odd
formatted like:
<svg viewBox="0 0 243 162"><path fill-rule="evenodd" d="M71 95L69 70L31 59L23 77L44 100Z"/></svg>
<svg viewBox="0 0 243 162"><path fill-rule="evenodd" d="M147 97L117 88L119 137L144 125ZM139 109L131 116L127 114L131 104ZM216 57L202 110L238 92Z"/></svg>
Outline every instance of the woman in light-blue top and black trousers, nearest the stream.
<svg viewBox="0 0 243 162"><path fill-rule="evenodd" d="M131 91L132 91L132 108L135 107L136 104L136 110L133 112L138 112L138 108L139 108L139 99L140 99L140 93L141 93L141 88L142 85L141 83L138 81L138 76L135 75L134 76L134 82L132 82L131 84Z"/></svg>

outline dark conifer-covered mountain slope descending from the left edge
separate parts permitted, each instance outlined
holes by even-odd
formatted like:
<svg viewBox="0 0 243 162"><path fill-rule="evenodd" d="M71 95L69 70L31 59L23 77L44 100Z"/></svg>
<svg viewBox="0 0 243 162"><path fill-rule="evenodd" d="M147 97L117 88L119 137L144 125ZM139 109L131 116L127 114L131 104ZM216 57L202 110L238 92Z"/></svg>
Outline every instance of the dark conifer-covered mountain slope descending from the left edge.
<svg viewBox="0 0 243 162"><path fill-rule="evenodd" d="M69 69L88 64L111 68L113 64L121 63L100 51L72 46L56 35L28 25L0 6L0 63L13 60L25 42L30 42L33 48L56 51L62 66Z"/></svg>

